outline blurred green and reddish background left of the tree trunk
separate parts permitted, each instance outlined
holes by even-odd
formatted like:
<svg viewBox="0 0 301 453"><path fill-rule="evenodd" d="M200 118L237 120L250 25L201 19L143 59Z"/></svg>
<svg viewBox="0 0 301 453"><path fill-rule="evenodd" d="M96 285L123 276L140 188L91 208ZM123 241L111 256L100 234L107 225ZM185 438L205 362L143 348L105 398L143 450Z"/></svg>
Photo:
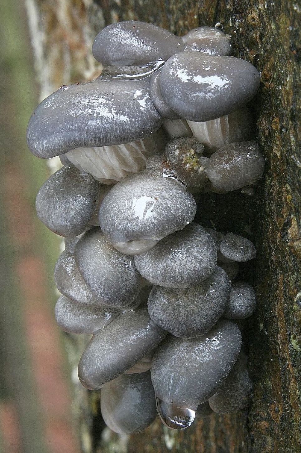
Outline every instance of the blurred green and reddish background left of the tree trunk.
<svg viewBox="0 0 301 453"><path fill-rule="evenodd" d="M35 79L24 3L0 0L0 452L77 453L71 370L53 315L60 241L34 207L50 169L25 138Z"/></svg>

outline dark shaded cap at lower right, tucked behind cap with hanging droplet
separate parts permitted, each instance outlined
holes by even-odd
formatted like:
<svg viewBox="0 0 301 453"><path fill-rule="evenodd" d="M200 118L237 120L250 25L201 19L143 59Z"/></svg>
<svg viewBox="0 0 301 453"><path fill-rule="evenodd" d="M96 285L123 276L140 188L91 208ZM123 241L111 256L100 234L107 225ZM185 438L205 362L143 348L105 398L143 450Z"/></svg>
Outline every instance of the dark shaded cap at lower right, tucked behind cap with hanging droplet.
<svg viewBox="0 0 301 453"><path fill-rule="evenodd" d="M250 402L252 381L249 378L247 357L243 352L217 392L209 398L209 405L218 414L242 410Z"/></svg>

